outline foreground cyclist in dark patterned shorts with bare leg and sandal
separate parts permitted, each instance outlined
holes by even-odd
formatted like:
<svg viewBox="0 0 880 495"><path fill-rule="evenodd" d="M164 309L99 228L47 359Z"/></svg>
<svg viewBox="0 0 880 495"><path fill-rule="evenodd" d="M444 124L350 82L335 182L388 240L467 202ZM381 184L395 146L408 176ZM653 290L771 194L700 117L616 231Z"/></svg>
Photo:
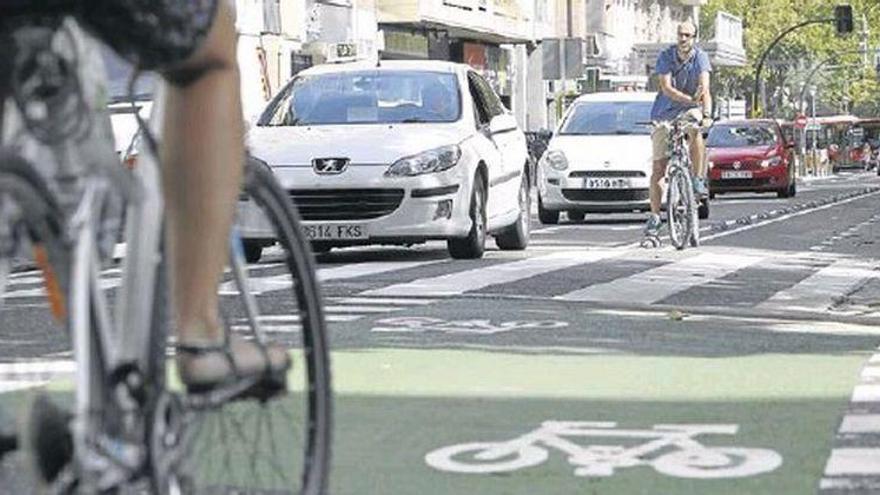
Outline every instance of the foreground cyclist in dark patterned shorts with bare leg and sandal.
<svg viewBox="0 0 880 495"><path fill-rule="evenodd" d="M7 2L0 0L0 8L22 4ZM290 366L283 348L228 335L218 308L245 156L232 1L71 3L84 27L168 83L159 152L182 382L205 391L283 372ZM0 33L15 29L3 21ZM8 63L0 60L4 77ZM0 97L7 84L0 78Z"/></svg>

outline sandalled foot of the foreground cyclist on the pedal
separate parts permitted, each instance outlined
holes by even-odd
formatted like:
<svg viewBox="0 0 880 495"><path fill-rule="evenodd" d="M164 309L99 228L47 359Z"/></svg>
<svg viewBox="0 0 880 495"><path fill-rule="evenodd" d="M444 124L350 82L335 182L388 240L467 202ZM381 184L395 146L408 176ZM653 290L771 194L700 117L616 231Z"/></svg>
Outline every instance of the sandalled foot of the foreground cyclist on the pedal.
<svg viewBox="0 0 880 495"><path fill-rule="evenodd" d="M283 347L232 336L222 343L180 343L177 369L191 393L235 387L250 383L239 395L252 389L283 389L290 369L290 355Z"/></svg>

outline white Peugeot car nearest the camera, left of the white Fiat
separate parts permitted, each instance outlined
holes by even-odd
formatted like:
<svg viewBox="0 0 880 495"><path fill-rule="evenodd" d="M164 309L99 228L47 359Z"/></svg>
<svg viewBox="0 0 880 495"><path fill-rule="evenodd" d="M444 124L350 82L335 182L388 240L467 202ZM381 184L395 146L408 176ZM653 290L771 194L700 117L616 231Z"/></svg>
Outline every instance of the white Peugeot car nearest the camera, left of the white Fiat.
<svg viewBox="0 0 880 495"><path fill-rule="evenodd" d="M250 129L318 252L446 240L455 258L529 241L525 136L466 65L382 61L299 73ZM239 208L246 255L272 242Z"/></svg>

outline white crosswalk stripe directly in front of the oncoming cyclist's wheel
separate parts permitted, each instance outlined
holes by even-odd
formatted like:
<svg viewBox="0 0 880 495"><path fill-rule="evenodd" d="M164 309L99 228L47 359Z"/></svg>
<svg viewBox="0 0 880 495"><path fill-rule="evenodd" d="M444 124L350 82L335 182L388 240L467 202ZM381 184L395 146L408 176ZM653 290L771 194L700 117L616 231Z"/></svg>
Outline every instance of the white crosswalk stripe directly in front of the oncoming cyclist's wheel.
<svg viewBox="0 0 880 495"><path fill-rule="evenodd" d="M734 253L702 253L631 277L569 292L555 299L652 304L677 292L753 265L762 259L764 259L762 256Z"/></svg>

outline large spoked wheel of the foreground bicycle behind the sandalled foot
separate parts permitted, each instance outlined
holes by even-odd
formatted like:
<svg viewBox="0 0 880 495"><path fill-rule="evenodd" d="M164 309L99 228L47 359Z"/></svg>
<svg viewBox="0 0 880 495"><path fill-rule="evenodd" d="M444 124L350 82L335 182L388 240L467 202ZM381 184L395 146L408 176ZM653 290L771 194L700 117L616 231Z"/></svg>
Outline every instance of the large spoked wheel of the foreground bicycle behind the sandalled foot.
<svg viewBox="0 0 880 495"><path fill-rule="evenodd" d="M194 493L327 491L331 438L330 359L320 291L308 241L287 192L271 170L250 162L240 198L240 229L269 228L261 263L244 265L245 284L227 274L220 306L233 332L289 349L286 392L237 400L200 413L189 456ZM270 241L271 239L271 241ZM269 242L275 245L268 245ZM243 253L234 254L243 260ZM252 296L251 307L242 286ZM257 310L254 313L254 309Z"/></svg>

